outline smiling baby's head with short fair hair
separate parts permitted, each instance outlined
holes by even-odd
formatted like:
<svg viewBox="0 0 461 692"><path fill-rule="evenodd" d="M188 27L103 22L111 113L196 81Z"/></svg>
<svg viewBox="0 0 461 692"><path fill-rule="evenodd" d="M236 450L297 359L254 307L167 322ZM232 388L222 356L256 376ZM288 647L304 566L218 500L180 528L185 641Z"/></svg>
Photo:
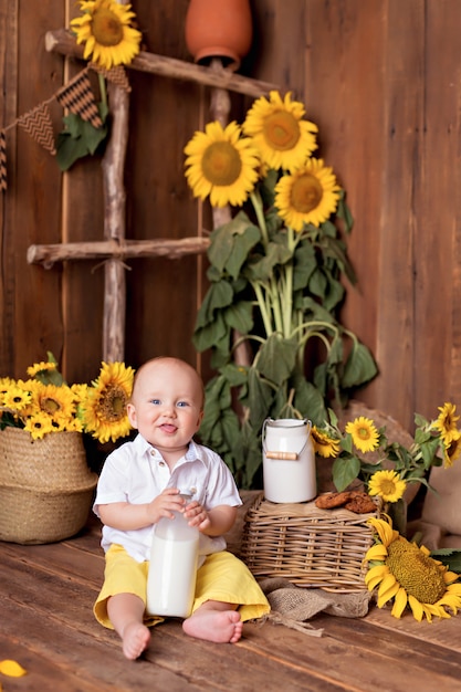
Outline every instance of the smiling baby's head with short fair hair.
<svg viewBox="0 0 461 692"><path fill-rule="evenodd" d="M161 451L186 448L202 419L202 387L187 364L159 359L143 367L135 384L128 418Z"/></svg>

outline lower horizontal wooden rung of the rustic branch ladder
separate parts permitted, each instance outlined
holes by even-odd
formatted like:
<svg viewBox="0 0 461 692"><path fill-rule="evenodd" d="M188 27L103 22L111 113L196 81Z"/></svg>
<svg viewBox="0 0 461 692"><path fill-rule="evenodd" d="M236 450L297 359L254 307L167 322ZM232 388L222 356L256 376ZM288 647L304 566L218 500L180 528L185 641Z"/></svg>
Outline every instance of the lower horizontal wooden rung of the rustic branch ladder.
<svg viewBox="0 0 461 692"><path fill-rule="evenodd" d="M182 238L181 240L125 240L124 242L102 240L30 245L28 249L28 263L42 264L45 269L51 269L55 262L65 262L67 260L105 260L115 258L123 261L155 256L176 260L188 254L206 252L209 244L208 238Z"/></svg>

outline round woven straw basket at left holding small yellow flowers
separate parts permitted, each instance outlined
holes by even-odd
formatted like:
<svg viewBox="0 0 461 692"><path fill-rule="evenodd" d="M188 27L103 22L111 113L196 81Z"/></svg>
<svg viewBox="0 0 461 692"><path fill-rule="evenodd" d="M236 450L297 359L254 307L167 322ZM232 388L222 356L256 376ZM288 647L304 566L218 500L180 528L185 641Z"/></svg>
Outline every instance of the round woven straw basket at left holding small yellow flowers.
<svg viewBox="0 0 461 692"><path fill-rule="evenodd" d="M97 474L80 432L32 440L19 428L0 431L0 541L41 544L76 534L86 523Z"/></svg>

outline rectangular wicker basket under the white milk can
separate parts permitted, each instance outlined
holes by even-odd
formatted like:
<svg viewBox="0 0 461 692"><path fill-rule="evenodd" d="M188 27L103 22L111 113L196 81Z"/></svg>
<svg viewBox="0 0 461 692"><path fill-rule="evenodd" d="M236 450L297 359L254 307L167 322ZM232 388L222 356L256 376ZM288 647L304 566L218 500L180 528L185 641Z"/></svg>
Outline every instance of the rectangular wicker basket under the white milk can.
<svg viewBox="0 0 461 692"><path fill-rule="evenodd" d="M364 562L374 514L319 510L315 502L275 504L256 496L243 524L241 558L256 579L283 577L296 586L350 593L365 589Z"/></svg>

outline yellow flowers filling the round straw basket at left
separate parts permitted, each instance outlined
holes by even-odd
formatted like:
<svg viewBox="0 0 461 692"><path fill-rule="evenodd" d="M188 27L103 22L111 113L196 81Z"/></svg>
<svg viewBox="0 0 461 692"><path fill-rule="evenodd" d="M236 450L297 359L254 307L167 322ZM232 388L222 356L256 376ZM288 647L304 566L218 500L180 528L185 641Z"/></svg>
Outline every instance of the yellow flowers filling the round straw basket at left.
<svg viewBox="0 0 461 692"><path fill-rule="evenodd" d="M123 363L103 363L91 385L69 386L53 354L28 368L29 379L0 378L0 430L30 432L33 440L61 431L86 432L99 442L115 442L130 431L126 415L134 370ZM1 434L1 432L0 432Z"/></svg>

